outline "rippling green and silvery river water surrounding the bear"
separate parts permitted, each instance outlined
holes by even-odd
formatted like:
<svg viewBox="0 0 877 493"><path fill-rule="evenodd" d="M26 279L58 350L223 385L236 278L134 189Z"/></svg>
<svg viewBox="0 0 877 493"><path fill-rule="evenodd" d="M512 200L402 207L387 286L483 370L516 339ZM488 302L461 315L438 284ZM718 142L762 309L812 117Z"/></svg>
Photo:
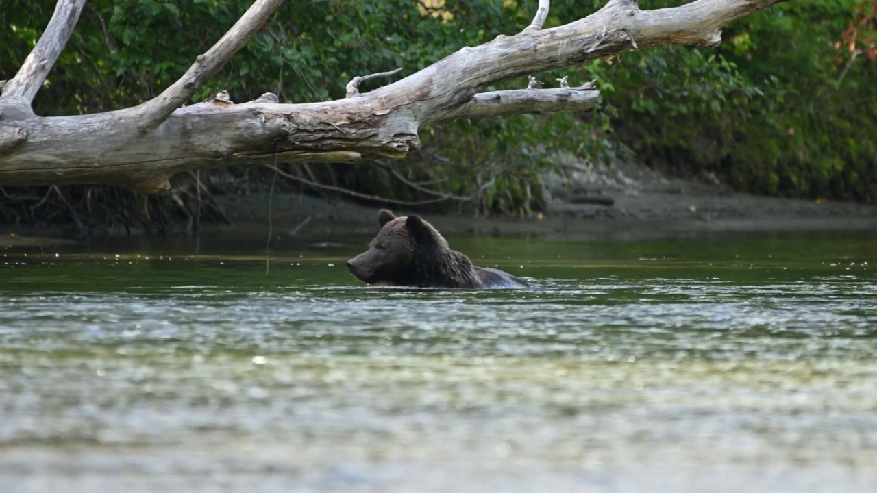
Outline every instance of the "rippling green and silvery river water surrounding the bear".
<svg viewBox="0 0 877 493"><path fill-rule="evenodd" d="M367 239L0 249L0 491L877 491L877 235Z"/></svg>

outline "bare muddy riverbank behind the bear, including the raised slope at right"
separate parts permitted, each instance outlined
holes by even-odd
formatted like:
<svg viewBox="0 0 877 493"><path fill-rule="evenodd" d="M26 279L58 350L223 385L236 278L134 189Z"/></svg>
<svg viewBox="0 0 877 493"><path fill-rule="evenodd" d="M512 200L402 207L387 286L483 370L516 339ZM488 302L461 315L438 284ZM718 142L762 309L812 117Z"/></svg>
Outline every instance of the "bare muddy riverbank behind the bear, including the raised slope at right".
<svg viewBox="0 0 877 493"><path fill-rule="evenodd" d="M517 217L421 213L446 236L544 239L645 239L737 232L875 231L877 205L754 196L704 175L700 181L660 175L635 163L545 176L546 210ZM295 194L217 196L231 225L209 232L332 239L368 236L376 206ZM397 215L411 211L392 208ZM270 211L270 213L269 213ZM269 221L270 217L270 221ZM0 247L56 244L70 232L0 226Z"/></svg>

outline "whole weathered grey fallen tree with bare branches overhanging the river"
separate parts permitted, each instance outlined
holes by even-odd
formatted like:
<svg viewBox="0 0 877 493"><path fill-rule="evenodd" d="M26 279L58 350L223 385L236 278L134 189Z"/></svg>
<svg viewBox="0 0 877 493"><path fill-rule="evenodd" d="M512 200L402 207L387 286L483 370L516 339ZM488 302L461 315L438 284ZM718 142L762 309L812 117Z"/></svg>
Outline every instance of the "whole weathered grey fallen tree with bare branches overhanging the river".
<svg viewBox="0 0 877 493"><path fill-rule="evenodd" d="M541 29L548 8L543 1L524 32L463 47L367 94L354 90L339 101L309 104L214 99L180 108L281 1L255 2L180 81L134 108L40 118L29 100L7 97L7 85L0 96L0 185L115 183L152 193L167 188L171 175L192 168L402 158L420 146L417 130L424 124L585 111L598 95L585 87L479 94L489 84L646 46L715 46L722 26L783 0L697 0L655 11L640 11L636 0L610 0L587 18ZM82 0L61 0L59 8L77 2ZM61 39L50 34L54 22L44 38ZM18 75L10 83L20 84Z"/></svg>

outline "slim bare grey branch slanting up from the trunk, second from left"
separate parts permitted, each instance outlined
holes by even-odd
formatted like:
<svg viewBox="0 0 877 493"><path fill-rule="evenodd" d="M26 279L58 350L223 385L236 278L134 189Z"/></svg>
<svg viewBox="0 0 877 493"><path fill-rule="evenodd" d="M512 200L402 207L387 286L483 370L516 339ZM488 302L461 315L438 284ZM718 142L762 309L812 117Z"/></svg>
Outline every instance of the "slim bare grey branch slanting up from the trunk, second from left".
<svg viewBox="0 0 877 493"><path fill-rule="evenodd" d="M243 17L205 54L198 55L184 75L160 95L137 107L138 125L148 130L165 121L216 74L253 37L283 0L256 0Z"/></svg>

